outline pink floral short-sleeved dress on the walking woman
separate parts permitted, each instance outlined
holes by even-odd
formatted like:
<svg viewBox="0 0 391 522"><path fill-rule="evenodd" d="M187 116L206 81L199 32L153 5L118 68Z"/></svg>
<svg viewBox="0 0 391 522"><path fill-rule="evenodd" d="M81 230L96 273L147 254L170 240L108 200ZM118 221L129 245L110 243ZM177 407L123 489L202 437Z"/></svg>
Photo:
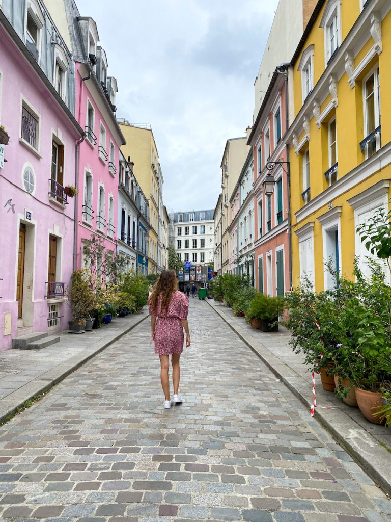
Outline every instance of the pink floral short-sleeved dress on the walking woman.
<svg viewBox="0 0 391 522"><path fill-rule="evenodd" d="M181 319L187 319L189 300L185 294L176 290L169 302L167 314L162 311L162 299L159 296L157 310L149 306L149 313L157 316L155 326L156 355L182 353L184 349L184 328Z"/></svg>

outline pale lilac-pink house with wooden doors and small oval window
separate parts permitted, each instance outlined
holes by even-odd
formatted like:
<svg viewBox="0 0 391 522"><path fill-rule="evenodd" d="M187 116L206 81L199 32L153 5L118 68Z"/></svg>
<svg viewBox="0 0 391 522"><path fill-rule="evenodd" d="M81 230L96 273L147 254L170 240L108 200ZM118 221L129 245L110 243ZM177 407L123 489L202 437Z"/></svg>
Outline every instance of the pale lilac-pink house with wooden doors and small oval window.
<svg viewBox="0 0 391 522"><path fill-rule="evenodd" d="M70 51L43 4L17 4L0 9L0 124L10 137L0 145L0 351L67 326L75 199L64 187L75 185L84 135L72 115Z"/></svg>

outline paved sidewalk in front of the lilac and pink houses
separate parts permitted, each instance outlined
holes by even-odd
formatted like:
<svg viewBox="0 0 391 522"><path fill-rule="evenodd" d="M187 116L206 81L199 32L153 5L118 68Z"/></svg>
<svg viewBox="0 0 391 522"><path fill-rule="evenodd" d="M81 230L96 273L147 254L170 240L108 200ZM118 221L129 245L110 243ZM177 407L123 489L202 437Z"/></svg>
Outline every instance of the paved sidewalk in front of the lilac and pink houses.
<svg viewBox="0 0 391 522"><path fill-rule="evenodd" d="M42 350L0 352L0 424L27 400L62 381L96 353L127 334L148 317L116 317L110 324L85 334L60 334L60 341Z"/></svg>

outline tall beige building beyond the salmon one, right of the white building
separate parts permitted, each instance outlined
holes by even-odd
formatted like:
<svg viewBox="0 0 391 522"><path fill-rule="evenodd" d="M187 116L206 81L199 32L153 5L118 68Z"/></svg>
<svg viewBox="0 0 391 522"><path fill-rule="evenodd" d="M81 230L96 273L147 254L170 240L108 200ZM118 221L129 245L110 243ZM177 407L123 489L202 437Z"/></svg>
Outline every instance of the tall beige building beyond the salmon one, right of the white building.
<svg viewBox="0 0 391 522"><path fill-rule="evenodd" d="M247 134L251 128L247 129ZM125 136L126 137L126 136ZM229 199L234 191L236 183L239 179L240 172L245 164L247 155L249 153L249 146L247 145L248 136L242 138L227 139L221 162L222 169L222 273L228 272L229 266L229 231L230 212Z"/></svg>

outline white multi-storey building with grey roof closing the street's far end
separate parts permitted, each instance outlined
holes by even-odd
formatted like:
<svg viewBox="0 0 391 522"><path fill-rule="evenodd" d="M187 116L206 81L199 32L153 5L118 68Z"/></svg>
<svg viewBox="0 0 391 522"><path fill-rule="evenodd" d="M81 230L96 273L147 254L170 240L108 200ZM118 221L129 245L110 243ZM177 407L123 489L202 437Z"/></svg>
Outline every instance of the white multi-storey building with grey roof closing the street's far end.
<svg viewBox="0 0 391 522"><path fill-rule="evenodd" d="M174 248L182 261L207 265L214 260L214 209L173 212Z"/></svg>

